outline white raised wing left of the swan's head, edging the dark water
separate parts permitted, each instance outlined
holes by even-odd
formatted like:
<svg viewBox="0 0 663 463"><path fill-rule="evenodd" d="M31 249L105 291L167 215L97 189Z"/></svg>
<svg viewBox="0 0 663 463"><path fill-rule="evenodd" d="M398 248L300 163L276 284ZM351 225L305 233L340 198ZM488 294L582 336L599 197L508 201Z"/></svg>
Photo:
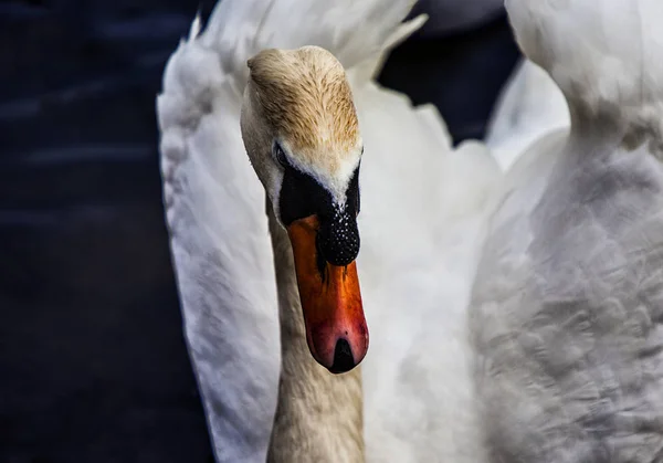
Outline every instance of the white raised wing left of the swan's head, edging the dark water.
<svg viewBox="0 0 663 463"><path fill-rule="evenodd" d="M158 97L164 204L185 336L220 462L265 461L280 339L264 190L239 131L241 88L197 19Z"/></svg>

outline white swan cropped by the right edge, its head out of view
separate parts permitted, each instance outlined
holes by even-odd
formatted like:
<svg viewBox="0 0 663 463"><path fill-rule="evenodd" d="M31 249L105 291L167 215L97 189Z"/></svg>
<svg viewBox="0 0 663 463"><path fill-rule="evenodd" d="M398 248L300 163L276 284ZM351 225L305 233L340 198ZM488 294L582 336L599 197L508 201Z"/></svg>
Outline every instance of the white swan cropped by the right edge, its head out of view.
<svg viewBox="0 0 663 463"><path fill-rule="evenodd" d="M663 456L663 3L507 0L568 104L507 173L470 304L493 461Z"/></svg>

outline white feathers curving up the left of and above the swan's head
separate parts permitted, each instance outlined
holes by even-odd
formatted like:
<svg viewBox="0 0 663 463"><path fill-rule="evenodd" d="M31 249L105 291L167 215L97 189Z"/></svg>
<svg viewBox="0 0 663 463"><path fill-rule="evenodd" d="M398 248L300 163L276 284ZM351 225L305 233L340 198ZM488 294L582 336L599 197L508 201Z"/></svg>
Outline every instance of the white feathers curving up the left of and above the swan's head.
<svg viewBox="0 0 663 463"><path fill-rule="evenodd" d="M185 334L219 462L264 462L280 339L264 191L240 135L246 61L319 45L366 82L410 0L223 0L170 57L157 101L164 202ZM368 64L367 64L368 63Z"/></svg>

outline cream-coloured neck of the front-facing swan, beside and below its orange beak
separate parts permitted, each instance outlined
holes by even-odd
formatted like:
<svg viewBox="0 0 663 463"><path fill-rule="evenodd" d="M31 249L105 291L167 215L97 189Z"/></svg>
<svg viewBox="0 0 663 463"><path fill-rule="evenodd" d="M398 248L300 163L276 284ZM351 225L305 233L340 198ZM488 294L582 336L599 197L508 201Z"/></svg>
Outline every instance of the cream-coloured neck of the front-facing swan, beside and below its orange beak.
<svg viewBox="0 0 663 463"><path fill-rule="evenodd" d="M267 201L269 202L269 201ZM361 463L364 414L361 372L332 375L311 356L285 230L267 206L274 248L282 369L269 463Z"/></svg>

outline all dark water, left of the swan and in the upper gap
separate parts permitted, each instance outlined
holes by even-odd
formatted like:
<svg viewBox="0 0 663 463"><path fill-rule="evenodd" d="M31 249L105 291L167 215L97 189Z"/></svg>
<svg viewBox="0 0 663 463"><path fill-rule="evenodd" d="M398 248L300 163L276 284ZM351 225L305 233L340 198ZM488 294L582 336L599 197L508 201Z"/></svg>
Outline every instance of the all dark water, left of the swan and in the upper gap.
<svg viewBox="0 0 663 463"><path fill-rule="evenodd" d="M155 96L212 1L0 2L0 463L211 462L161 209ZM504 17L381 81L481 138Z"/></svg>

